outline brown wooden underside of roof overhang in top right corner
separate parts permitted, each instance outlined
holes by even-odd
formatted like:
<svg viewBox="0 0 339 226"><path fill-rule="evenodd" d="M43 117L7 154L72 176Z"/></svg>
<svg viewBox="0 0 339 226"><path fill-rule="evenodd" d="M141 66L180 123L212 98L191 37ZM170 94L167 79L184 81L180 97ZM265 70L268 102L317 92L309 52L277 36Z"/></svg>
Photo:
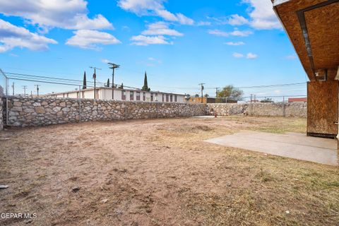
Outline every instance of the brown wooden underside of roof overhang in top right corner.
<svg viewBox="0 0 339 226"><path fill-rule="evenodd" d="M339 66L339 0L272 2L309 79L333 80Z"/></svg>

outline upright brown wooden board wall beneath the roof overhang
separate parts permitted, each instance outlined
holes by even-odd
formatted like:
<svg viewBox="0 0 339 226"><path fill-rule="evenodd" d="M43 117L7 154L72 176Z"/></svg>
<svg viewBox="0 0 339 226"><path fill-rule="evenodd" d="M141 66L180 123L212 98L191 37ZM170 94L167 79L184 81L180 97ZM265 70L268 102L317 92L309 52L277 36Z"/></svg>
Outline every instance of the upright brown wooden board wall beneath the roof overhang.
<svg viewBox="0 0 339 226"><path fill-rule="evenodd" d="M307 135L335 138L338 134L338 81L307 83Z"/></svg>

